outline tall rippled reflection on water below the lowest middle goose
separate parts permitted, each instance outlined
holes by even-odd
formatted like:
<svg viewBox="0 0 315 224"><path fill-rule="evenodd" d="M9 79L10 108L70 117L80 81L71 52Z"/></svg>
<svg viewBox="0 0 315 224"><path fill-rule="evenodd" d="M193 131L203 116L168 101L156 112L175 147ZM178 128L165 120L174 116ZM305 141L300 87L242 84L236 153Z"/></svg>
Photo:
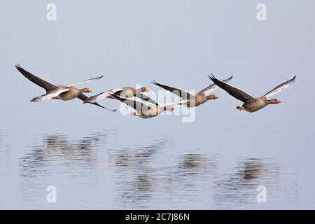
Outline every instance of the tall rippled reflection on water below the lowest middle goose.
<svg viewBox="0 0 315 224"><path fill-rule="evenodd" d="M171 137L163 137L148 146L133 146L109 150L109 165L113 166L118 193L118 207L146 207L158 192L158 169L155 156L162 148L172 147Z"/></svg>

